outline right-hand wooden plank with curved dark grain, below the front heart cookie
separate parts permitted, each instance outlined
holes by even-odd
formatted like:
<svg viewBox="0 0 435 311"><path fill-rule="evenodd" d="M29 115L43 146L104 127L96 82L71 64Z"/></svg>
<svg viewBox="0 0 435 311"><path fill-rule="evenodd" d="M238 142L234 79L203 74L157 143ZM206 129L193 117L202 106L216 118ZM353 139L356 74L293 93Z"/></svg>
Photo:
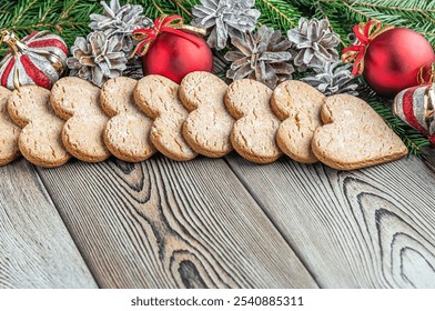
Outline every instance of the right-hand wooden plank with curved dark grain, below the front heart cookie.
<svg viewBox="0 0 435 311"><path fill-rule="evenodd" d="M435 173L421 160L353 172L227 161L321 287L435 287Z"/></svg>

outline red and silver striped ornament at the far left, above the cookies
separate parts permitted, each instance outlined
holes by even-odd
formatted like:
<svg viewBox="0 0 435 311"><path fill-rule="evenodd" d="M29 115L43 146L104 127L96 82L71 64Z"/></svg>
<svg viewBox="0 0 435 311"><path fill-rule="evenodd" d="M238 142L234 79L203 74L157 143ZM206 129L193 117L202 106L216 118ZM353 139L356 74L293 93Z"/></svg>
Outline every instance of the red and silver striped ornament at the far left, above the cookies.
<svg viewBox="0 0 435 311"><path fill-rule="evenodd" d="M31 84L50 89L65 69L68 47L59 36L36 31L19 40L4 30L1 42L11 49L0 63L0 83L9 90Z"/></svg>

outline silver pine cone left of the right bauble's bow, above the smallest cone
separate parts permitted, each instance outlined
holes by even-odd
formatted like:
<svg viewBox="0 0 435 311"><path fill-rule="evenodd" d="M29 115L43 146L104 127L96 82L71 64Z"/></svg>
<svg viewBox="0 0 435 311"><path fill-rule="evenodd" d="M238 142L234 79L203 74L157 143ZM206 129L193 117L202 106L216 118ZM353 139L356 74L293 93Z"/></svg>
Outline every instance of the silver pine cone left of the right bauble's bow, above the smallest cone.
<svg viewBox="0 0 435 311"><path fill-rule="evenodd" d="M289 40L294 44L297 56L294 64L299 71L305 71L325 61L338 60L338 34L331 32L327 20L301 18L299 27L289 30Z"/></svg>

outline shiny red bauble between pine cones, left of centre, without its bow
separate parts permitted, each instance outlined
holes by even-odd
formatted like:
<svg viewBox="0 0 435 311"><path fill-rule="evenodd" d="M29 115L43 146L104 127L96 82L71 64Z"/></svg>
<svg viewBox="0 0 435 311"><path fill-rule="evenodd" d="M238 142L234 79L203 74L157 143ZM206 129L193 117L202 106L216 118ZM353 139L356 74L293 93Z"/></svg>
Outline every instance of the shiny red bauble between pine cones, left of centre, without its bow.
<svg viewBox="0 0 435 311"><path fill-rule="evenodd" d="M143 73L160 74L180 83L193 71L213 71L213 54L205 40L183 30L189 39L176 33L162 32L142 57Z"/></svg>

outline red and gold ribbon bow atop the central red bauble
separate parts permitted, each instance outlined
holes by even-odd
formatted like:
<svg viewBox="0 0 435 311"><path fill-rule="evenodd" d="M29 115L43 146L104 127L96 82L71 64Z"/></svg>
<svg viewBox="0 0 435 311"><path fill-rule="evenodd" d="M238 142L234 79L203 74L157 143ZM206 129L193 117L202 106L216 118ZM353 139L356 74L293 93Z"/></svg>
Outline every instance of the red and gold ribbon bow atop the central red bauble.
<svg viewBox="0 0 435 311"><path fill-rule="evenodd" d="M132 38L140 42L135 47L131 57L133 57L135 53L138 53L141 57L146 54L151 44L155 41L155 39L158 39L159 34L162 32L170 32L183 37L184 39L199 46L198 42L194 41L192 36L189 36L186 32L182 30L190 30L201 36L206 34L205 29L184 24L184 19L180 16L162 16L155 19L152 28L136 29L132 32Z"/></svg>

